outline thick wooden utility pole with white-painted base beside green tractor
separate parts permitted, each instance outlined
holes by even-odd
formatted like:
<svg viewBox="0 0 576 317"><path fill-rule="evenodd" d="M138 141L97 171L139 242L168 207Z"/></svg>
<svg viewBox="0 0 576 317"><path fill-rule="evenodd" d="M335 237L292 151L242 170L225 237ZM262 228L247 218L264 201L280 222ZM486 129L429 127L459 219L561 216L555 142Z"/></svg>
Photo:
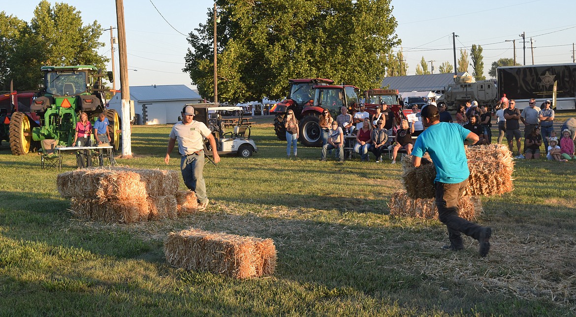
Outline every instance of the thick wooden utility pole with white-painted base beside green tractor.
<svg viewBox="0 0 576 317"><path fill-rule="evenodd" d="M128 52L126 51L126 27L124 26L124 2L116 0L118 23L118 59L120 63L120 95L122 96L122 158L132 158L130 141L130 86L128 86Z"/></svg>

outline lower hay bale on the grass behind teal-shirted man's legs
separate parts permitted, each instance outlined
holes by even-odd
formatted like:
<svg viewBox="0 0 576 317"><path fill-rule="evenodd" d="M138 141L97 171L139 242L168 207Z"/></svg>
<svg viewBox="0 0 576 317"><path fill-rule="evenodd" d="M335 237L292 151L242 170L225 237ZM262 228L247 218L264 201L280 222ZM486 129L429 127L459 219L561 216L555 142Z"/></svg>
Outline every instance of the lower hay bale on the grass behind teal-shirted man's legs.
<svg viewBox="0 0 576 317"><path fill-rule="evenodd" d="M438 208L434 198L410 198L406 191L392 194L388 203L391 216L438 219ZM463 196L458 199L458 216L473 220L482 213L482 202L479 197Z"/></svg>

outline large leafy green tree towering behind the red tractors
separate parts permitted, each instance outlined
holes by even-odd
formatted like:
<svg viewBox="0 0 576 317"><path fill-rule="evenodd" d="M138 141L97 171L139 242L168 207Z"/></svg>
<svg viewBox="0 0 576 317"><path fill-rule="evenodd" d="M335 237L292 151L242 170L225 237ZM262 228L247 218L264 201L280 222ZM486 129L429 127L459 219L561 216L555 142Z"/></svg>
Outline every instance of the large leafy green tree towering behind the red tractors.
<svg viewBox="0 0 576 317"><path fill-rule="evenodd" d="M288 78L380 87L400 44L390 0L217 0L218 100L286 96ZM354 12L354 14L350 14ZM191 32L184 71L213 96L213 10Z"/></svg>

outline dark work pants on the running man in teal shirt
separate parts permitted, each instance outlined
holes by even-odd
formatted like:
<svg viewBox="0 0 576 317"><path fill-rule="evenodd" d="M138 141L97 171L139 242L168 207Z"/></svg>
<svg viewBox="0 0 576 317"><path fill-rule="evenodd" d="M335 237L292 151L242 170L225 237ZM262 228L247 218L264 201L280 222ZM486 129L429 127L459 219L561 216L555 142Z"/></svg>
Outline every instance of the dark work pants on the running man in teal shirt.
<svg viewBox="0 0 576 317"><path fill-rule="evenodd" d="M482 227L458 217L458 198L462 195L468 180L456 184L435 182L436 206L438 207L438 219L448 227L448 239L456 248L462 248L461 233L478 240Z"/></svg>

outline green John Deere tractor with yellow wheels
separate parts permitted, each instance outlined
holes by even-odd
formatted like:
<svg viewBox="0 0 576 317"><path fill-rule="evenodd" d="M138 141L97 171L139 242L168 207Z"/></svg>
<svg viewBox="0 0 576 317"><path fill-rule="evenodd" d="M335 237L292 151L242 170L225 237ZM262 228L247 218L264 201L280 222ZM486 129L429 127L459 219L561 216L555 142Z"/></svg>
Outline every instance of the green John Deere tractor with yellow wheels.
<svg viewBox="0 0 576 317"><path fill-rule="evenodd" d="M106 76L91 65L44 66L44 88L31 105L31 112L39 118L39 126L31 127L31 118L23 113L14 113L10 122L10 148L13 154L26 154L33 141L56 139L60 146L71 146L74 142L75 126L81 111L94 122L105 113L109 121L111 145L120 146L120 118L115 110L106 110L104 86L101 78Z"/></svg>

